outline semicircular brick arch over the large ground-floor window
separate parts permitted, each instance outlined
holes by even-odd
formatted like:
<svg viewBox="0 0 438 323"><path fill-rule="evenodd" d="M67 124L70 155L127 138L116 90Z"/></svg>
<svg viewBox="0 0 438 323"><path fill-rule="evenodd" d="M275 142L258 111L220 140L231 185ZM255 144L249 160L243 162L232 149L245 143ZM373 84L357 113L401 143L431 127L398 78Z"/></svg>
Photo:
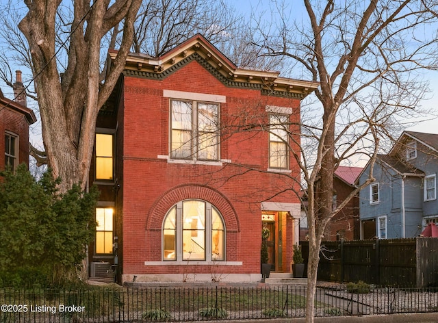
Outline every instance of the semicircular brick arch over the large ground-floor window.
<svg viewBox="0 0 438 323"><path fill-rule="evenodd" d="M240 232L240 223L231 203L218 191L203 185L181 185L160 196L151 207L146 222L146 231L161 231L164 216L179 201L199 199L207 201L218 209L225 222L226 232Z"/></svg>

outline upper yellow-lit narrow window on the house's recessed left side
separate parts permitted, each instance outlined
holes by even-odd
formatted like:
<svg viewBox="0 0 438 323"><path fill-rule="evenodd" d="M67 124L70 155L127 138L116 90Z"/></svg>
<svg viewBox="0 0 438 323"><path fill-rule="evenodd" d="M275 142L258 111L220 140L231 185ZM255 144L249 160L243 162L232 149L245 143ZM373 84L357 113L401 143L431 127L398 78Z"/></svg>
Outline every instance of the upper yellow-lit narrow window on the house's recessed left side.
<svg viewBox="0 0 438 323"><path fill-rule="evenodd" d="M96 133L96 180L114 179L114 134Z"/></svg>

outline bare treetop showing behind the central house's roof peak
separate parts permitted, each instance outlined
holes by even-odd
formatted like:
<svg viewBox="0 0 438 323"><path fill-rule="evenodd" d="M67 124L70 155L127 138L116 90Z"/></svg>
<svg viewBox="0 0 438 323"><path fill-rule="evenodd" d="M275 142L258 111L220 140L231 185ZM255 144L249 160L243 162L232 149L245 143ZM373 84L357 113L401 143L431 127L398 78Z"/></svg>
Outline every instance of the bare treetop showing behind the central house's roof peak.
<svg viewBox="0 0 438 323"><path fill-rule="evenodd" d="M219 46L236 34L240 19L222 1L144 0L135 24L133 51L159 57L195 34Z"/></svg>

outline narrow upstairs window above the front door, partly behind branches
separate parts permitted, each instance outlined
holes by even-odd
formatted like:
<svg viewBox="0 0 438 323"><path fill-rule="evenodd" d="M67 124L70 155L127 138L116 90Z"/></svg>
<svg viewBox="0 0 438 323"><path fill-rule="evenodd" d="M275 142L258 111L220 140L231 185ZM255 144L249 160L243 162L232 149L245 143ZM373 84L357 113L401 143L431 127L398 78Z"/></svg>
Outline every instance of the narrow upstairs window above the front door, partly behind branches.
<svg viewBox="0 0 438 323"><path fill-rule="evenodd" d="M271 114L269 116L269 167L289 168L288 129L289 116Z"/></svg>

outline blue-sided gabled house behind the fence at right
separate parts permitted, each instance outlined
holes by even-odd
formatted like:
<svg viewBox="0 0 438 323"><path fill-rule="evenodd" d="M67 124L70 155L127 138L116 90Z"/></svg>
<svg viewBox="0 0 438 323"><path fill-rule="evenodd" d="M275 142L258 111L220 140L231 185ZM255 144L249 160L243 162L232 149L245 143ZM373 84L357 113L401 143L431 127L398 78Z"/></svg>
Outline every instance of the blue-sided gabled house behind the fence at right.
<svg viewBox="0 0 438 323"><path fill-rule="evenodd" d="M368 164L359 176L363 183ZM378 155L376 179L359 193L361 239L417 237L438 222L438 134L404 131L387 155Z"/></svg>

